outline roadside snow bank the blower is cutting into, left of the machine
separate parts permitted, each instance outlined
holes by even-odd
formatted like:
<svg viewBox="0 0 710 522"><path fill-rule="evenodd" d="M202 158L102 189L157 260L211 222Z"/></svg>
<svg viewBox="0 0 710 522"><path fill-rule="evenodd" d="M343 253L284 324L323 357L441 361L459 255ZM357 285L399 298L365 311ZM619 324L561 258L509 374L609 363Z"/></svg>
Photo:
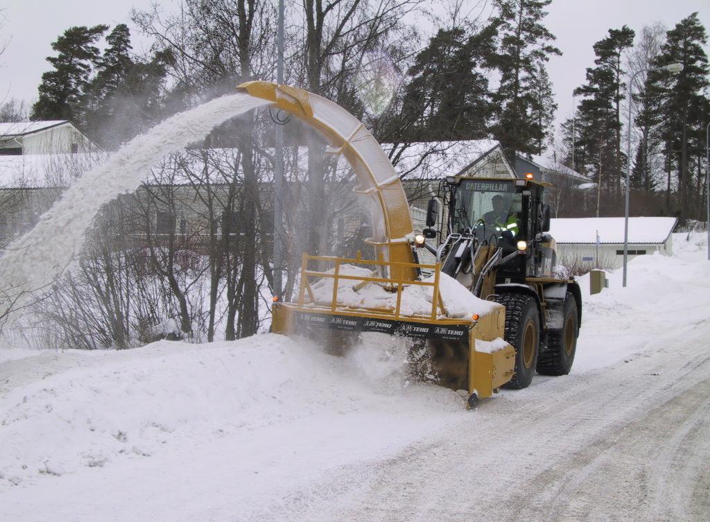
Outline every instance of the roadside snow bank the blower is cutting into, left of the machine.
<svg viewBox="0 0 710 522"><path fill-rule="evenodd" d="M378 343L385 351L382 339ZM223 437L280 432L307 419L316 429L324 418L332 423L333 416L358 412L388 415L404 404L409 408L410 401L417 404L412 415L418 411L423 418L445 410L447 403L451 410L460 408L449 391L423 385L406 391L400 386L399 396L388 393L387 402L362 379L364 371L371 372L372 357L360 354L355 364L344 364L280 335L59 355L50 361L41 353L0 365L0 374L10 379L21 368L40 368L33 370L40 371L35 379L20 378L14 389L0 393L0 490L40 475L76 474L175 447L184 452ZM42 360L31 361L35 358ZM362 368L367 361L370 366ZM371 381L389 378L401 362L393 357ZM64 366L53 374L52 364Z"/></svg>

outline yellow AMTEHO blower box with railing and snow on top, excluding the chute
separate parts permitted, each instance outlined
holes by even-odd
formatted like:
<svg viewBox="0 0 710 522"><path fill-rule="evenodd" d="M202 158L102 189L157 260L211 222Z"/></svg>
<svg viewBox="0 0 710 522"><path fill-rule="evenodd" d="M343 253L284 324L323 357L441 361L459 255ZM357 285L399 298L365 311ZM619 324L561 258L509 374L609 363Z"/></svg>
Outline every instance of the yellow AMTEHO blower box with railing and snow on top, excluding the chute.
<svg viewBox="0 0 710 522"><path fill-rule="evenodd" d="M310 270L310 263L332 266ZM367 268L365 268L367 267ZM421 281L378 276L377 268L406 273L431 271ZM359 332L383 332L413 339L427 351L427 373L435 382L469 391L469 404L489 397L513 377L515 350L503 341L505 309L471 298L481 305L447 309L459 283L441 273L439 263L395 263L304 254L298 299L274 305L273 332L307 335L335 351L346 348ZM464 289L465 291L465 289ZM443 297L442 297L443 296ZM461 317L450 317L459 315Z"/></svg>

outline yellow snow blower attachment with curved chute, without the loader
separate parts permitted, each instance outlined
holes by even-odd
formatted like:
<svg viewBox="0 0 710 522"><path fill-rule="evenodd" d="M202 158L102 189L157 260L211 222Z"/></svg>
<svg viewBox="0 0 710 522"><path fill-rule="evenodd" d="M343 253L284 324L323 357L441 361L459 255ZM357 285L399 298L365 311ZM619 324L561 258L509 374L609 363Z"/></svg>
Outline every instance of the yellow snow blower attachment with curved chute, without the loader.
<svg viewBox="0 0 710 522"><path fill-rule="evenodd" d="M272 331L285 335L313 334L341 342L343 333L376 331L404 335L427 342L432 347L432 361L439 371L442 386L467 389L480 398L488 397L513 377L515 349L509 344L496 352L476 351L476 341L503 339L505 308L496 305L485 315L469 319L447 317L439 293L439 263L415 263L412 251L413 222L399 177L381 146L356 119L339 105L303 89L271 82L246 82L239 90L253 97L273 102L275 109L293 114L320 131L330 143L327 153L342 154L359 180L356 192L368 200L373 224L376 258L364 260L330 256L308 256L302 260L300 290L293 303L275 303L272 308ZM310 262L319 266L332 264L328 271L310 270ZM371 277L339 273L344 265L368 266ZM417 273L429 271L433 282L417 281ZM334 290L328 302L317 302L310 288L312 278L333 278ZM338 281L358 280L374 283L397 293L395 307L352 308L337 302ZM403 315L400 300L405 288L433 286L432 311L429 315Z"/></svg>

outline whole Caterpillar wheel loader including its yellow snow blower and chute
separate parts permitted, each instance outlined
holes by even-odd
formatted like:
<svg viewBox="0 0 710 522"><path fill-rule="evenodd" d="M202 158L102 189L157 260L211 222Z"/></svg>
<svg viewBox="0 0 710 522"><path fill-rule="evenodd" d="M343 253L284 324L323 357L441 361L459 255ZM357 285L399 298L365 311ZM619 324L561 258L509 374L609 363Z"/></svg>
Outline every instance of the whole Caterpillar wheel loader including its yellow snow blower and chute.
<svg viewBox="0 0 710 522"><path fill-rule="evenodd" d="M447 178L443 197L429 204L427 228L415 234L393 165L355 116L295 87L254 81L237 89L310 124L329 141L326 153L346 158L359 180L355 191L365 199L373 231L366 242L375 259L302 256L297 299L273 304L273 332L315 337L336 350L359 332L409 337L416 347L426 348L428 373L442 386L466 390L469 407L501 386L525 388L535 371L569 373L581 294L574 280L554 276L545 183ZM437 230L432 225L439 212L446 217ZM420 263L422 249L435 262ZM354 273L352 266L367 270ZM452 303L442 297L442 283L451 278L485 306L464 317L448 310ZM324 281L330 284L326 295L315 291ZM352 293L367 285L390 293L388 304L342 300L344 286ZM430 292L430 308L412 310L403 304L417 287Z"/></svg>

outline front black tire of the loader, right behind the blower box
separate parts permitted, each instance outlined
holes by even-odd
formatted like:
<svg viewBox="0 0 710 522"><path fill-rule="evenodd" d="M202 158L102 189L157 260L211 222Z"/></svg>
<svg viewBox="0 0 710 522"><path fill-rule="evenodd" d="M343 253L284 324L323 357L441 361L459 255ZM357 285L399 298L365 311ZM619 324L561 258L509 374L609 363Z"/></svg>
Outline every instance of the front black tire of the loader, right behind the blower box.
<svg viewBox="0 0 710 522"><path fill-rule="evenodd" d="M540 347L540 313L532 296L503 293L496 299L506 307L506 341L515 348L515 375L506 388L527 388L535 376Z"/></svg>

